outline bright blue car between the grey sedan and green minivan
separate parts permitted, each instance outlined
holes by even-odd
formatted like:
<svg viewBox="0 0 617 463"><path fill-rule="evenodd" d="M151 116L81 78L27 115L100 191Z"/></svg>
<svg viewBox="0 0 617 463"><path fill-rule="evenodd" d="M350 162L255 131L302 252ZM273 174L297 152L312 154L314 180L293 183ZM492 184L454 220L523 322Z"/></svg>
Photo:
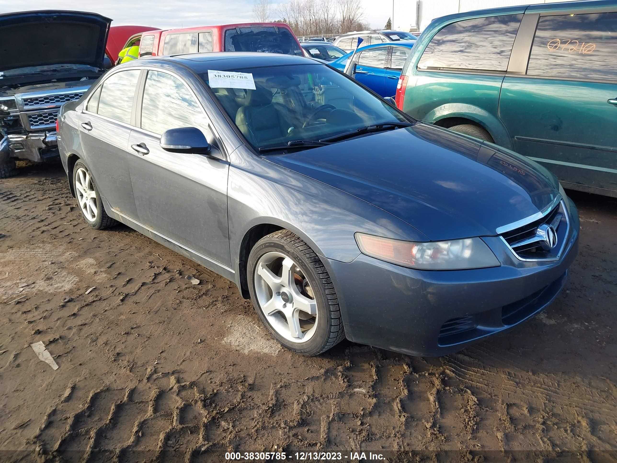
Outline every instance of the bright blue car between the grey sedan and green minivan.
<svg viewBox="0 0 617 463"><path fill-rule="evenodd" d="M358 48L354 56L356 80L384 98L394 97L400 73L415 43L401 40ZM342 71L353 54L347 53L328 64Z"/></svg>

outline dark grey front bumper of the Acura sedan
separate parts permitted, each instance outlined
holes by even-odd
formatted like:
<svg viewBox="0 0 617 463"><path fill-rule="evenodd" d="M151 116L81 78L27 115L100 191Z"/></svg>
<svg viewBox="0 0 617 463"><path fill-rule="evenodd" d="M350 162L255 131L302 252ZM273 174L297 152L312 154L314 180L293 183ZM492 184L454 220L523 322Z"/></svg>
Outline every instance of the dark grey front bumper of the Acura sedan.
<svg viewBox="0 0 617 463"><path fill-rule="evenodd" d="M569 201L569 199L568 199ZM578 252L579 219L557 261L523 262L502 241L485 239L500 267L413 270L363 254L326 259L349 340L415 356L442 356L537 314L563 288Z"/></svg>

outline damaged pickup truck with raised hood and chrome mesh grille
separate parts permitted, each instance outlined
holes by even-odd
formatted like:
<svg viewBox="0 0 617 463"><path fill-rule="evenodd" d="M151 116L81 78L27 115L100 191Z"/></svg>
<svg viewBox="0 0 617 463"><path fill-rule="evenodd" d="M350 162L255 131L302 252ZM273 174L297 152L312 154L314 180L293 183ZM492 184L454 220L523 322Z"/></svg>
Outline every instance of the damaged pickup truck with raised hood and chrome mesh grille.
<svg viewBox="0 0 617 463"><path fill-rule="evenodd" d="M17 173L16 159L58 156L58 111L105 71L111 21L78 11L0 15L0 178Z"/></svg>

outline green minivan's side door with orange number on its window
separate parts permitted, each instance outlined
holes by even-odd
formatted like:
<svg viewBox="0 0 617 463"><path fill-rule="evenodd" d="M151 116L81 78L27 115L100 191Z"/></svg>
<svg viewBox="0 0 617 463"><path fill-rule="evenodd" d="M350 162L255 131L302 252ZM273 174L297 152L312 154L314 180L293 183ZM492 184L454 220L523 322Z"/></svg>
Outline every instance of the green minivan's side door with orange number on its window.
<svg viewBox="0 0 617 463"><path fill-rule="evenodd" d="M528 20L531 33L517 38L526 43L526 69L505 78L499 102L515 150L566 187L617 194L617 12Z"/></svg>

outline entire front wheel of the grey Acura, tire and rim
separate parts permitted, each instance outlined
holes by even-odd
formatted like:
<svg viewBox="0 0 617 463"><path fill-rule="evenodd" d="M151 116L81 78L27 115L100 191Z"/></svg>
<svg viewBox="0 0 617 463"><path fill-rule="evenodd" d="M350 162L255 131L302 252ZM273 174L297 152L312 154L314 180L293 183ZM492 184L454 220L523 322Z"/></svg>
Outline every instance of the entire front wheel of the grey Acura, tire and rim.
<svg viewBox="0 0 617 463"><path fill-rule="evenodd" d="M290 351L315 356L345 338L328 270L292 231L275 231L257 241L247 281L263 325Z"/></svg>

